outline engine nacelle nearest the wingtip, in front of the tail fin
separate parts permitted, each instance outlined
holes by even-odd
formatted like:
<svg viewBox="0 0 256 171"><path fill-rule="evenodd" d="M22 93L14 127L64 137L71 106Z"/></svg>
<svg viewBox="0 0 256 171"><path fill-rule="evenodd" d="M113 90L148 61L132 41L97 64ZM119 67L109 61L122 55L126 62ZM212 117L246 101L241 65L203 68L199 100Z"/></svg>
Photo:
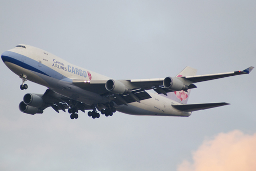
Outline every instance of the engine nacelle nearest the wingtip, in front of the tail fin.
<svg viewBox="0 0 256 171"><path fill-rule="evenodd" d="M166 77L163 80L163 86L166 89L169 90L175 90L175 91L181 91L181 90L187 90L188 87L186 85L184 85L184 83L182 81L180 81L177 78L173 78L173 77Z"/></svg>

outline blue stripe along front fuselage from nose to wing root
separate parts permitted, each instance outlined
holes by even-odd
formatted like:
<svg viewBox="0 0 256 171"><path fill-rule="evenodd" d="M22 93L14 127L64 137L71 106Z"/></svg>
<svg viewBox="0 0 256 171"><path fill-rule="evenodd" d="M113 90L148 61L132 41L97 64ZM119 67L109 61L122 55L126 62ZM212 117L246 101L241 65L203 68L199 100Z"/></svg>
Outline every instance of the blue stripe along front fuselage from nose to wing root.
<svg viewBox="0 0 256 171"><path fill-rule="evenodd" d="M23 62L22 58L24 58L26 62ZM15 53L15 52L11 52L11 51L4 52L2 54L2 60L4 62L14 63L15 65L17 65L19 67L25 68L30 71L34 71L36 73L40 73L40 74L43 74L43 75L46 75L49 77L53 77L53 78L56 78L59 80L64 79L67 82L72 82L72 79L67 78L66 76L63 76L62 74L58 73L57 71L43 65L42 63L39 63L38 61L36 61L34 59L31 59L27 56L24 56L24 55ZM38 65L40 67L38 67Z"/></svg>

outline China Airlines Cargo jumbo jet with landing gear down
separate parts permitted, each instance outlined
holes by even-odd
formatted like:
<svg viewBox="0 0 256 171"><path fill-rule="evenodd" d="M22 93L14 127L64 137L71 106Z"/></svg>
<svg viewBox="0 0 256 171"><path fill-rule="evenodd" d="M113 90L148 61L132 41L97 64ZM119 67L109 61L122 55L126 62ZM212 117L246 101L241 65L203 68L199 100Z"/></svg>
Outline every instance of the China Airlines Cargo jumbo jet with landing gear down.
<svg viewBox="0 0 256 171"><path fill-rule="evenodd" d="M229 103L187 104L194 83L229 76L249 74L243 71L196 75L197 69L186 67L176 77L115 80L72 65L33 46L20 44L2 54L5 65L22 79L21 90L28 89L29 80L47 87L44 94L25 94L19 110L26 114L41 114L48 107L78 118L78 111L88 112L93 119L100 114L112 116L116 111L131 115L183 116L194 111L216 108ZM152 93L148 90L154 90Z"/></svg>

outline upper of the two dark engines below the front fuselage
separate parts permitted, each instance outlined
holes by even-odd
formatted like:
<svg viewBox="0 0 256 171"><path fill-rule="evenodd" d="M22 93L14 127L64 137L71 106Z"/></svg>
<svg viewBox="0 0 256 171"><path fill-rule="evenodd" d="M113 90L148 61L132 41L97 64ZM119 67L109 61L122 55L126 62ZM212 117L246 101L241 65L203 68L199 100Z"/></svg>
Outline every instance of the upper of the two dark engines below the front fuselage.
<svg viewBox="0 0 256 171"><path fill-rule="evenodd" d="M40 108L41 106L44 105L44 100L42 100L41 98L42 95L40 94L25 94L25 96L23 97L23 101L25 104L33 106L35 108Z"/></svg>

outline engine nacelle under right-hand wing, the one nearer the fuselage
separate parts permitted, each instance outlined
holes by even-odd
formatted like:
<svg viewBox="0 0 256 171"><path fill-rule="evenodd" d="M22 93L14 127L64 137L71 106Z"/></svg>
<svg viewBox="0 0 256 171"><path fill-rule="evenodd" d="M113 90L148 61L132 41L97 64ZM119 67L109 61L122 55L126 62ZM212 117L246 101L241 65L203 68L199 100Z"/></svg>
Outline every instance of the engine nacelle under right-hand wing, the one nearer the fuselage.
<svg viewBox="0 0 256 171"><path fill-rule="evenodd" d="M113 79L109 79L108 81L106 81L105 87L106 90L118 94L123 94L129 91L129 89L126 88L126 86L122 82L115 81Z"/></svg>

